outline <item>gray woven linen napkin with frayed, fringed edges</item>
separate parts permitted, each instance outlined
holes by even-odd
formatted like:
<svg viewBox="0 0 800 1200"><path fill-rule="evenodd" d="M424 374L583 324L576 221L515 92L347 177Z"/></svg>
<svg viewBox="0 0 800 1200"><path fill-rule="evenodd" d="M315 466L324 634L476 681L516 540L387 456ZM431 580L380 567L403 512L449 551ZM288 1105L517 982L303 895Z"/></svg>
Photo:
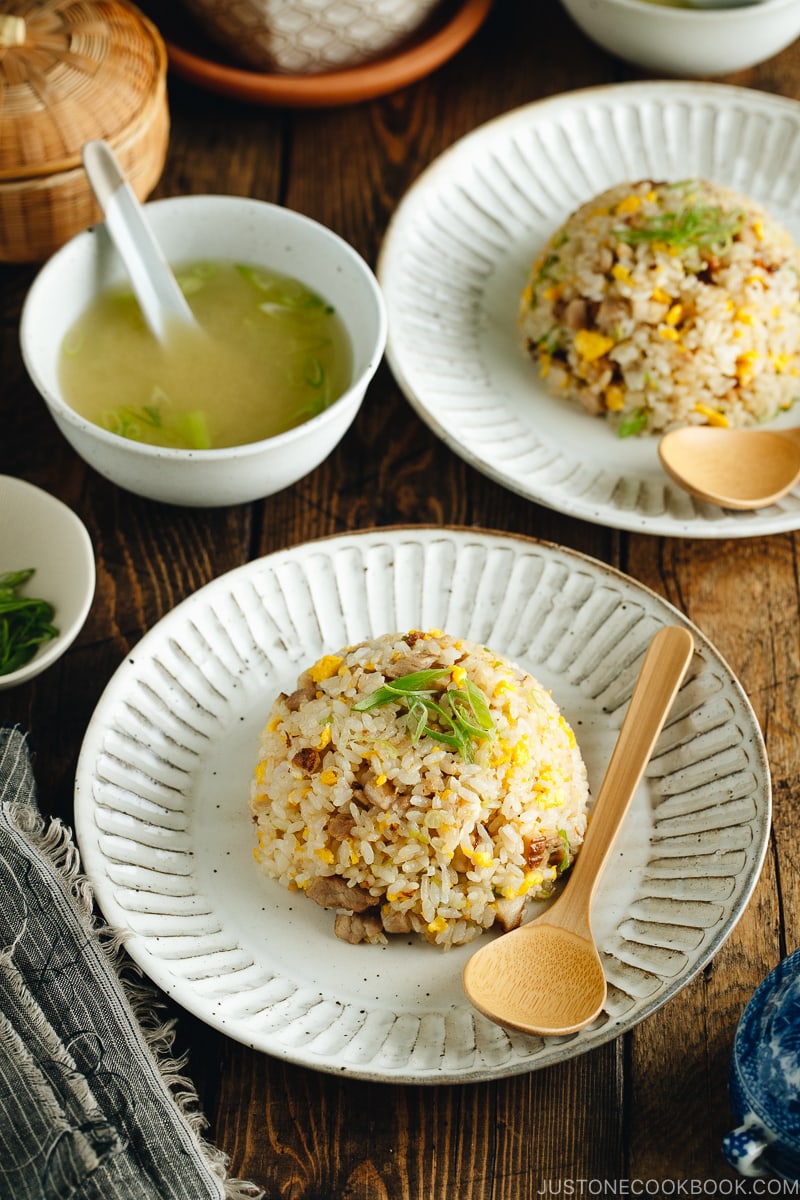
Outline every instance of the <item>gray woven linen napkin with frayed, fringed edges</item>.
<svg viewBox="0 0 800 1200"><path fill-rule="evenodd" d="M26 736L0 727L0 1200L263 1194L203 1140L155 1000L42 820Z"/></svg>

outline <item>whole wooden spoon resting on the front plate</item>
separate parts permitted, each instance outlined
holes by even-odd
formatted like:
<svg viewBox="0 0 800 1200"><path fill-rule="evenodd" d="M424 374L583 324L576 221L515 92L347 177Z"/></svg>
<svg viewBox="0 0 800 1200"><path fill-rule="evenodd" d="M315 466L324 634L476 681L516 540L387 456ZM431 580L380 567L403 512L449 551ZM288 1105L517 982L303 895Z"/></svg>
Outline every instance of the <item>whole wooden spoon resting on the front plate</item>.
<svg viewBox="0 0 800 1200"><path fill-rule="evenodd" d="M590 910L597 881L692 659L686 629L660 630L644 658L584 844L547 912L477 950L464 990L485 1016L524 1033L573 1033L606 1002Z"/></svg>

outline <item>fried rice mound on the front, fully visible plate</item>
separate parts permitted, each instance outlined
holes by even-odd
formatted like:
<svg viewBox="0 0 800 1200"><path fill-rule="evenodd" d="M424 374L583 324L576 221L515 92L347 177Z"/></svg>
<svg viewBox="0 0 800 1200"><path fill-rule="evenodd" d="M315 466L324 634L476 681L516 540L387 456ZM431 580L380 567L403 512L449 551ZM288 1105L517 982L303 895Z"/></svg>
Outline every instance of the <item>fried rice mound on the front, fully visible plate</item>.
<svg viewBox="0 0 800 1200"><path fill-rule="evenodd" d="M255 860L344 941L447 948L510 929L583 841L571 727L527 671L440 630L326 654L269 714Z"/></svg>

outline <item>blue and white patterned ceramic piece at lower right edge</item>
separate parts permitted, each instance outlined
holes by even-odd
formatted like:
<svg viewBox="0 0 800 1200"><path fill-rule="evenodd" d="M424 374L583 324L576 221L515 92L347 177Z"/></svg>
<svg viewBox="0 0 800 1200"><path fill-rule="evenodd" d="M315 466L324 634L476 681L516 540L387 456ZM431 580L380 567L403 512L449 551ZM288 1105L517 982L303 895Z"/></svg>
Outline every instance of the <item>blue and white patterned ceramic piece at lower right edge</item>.
<svg viewBox="0 0 800 1200"><path fill-rule="evenodd" d="M730 1103L738 1127L722 1150L741 1175L800 1180L800 950L768 974L733 1045Z"/></svg>

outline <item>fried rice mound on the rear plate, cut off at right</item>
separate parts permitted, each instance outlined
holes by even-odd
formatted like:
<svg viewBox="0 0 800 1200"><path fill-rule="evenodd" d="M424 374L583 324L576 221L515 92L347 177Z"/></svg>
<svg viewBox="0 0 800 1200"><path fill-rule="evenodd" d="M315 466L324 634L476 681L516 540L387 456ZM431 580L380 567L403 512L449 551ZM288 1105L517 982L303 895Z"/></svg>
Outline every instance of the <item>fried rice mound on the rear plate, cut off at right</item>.
<svg viewBox="0 0 800 1200"><path fill-rule="evenodd" d="M519 306L545 386L621 437L752 426L798 397L800 251L703 180L619 184L534 263Z"/></svg>

